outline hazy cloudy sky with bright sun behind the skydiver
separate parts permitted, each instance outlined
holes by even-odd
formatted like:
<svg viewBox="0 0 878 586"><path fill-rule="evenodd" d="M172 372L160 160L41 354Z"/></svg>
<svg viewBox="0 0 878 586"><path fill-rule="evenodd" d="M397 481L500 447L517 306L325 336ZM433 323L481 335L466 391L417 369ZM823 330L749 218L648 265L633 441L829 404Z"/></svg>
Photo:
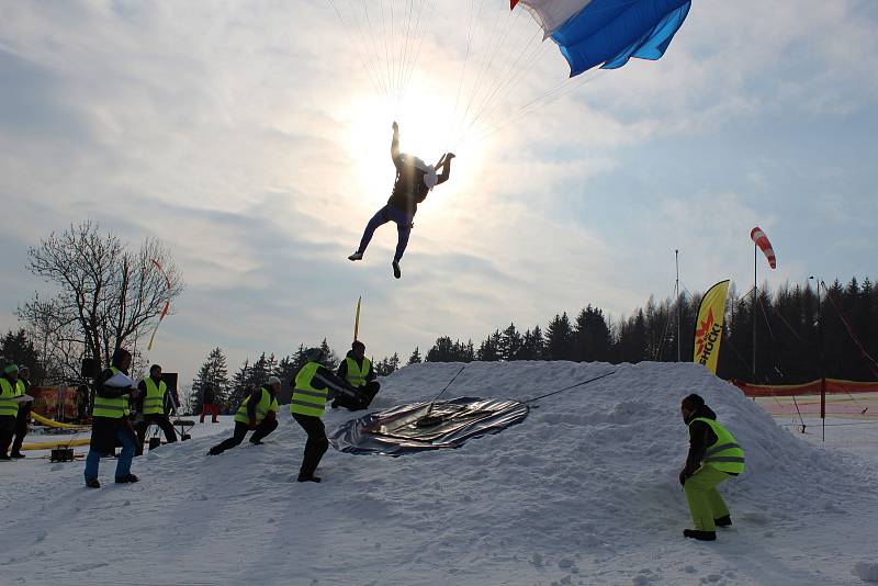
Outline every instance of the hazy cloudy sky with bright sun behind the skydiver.
<svg viewBox="0 0 878 586"><path fill-rule="evenodd" d="M184 380L215 346L233 367L324 337L341 350L358 295L382 357L588 303L630 314L672 293L674 249L689 291L725 278L746 291L755 225L778 256L759 266L772 286L875 277L878 4L696 0L662 60L516 115L566 76L551 42L533 45L484 126L454 140L454 103L507 22L506 2L471 20L472 5L425 13L396 104L329 2L7 3L0 328L45 290L27 247L89 217L170 247L187 290L148 359ZM538 33L527 15L508 22ZM459 155L415 218L401 281L392 226L363 262L345 258L389 194L394 117L404 150Z"/></svg>

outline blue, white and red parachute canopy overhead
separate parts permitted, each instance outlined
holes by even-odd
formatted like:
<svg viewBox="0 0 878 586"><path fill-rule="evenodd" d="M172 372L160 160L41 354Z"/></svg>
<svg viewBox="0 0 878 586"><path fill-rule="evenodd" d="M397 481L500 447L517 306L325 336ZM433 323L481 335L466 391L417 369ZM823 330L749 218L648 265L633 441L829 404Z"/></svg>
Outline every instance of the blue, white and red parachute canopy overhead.
<svg viewBox="0 0 878 586"><path fill-rule="evenodd" d="M570 64L571 77L617 69L632 57L656 60L689 13L691 0L511 0L522 4Z"/></svg>

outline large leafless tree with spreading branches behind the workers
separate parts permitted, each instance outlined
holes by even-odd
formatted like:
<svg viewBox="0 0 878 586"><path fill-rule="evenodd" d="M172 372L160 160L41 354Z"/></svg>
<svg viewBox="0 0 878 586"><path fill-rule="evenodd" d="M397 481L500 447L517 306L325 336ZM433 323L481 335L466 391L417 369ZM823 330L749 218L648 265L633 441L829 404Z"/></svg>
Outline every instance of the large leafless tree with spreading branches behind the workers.
<svg viewBox="0 0 878 586"><path fill-rule="evenodd" d="M132 251L97 223L52 233L27 250L27 269L59 291L48 301L34 294L19 308L44 357L64 377L76 377L83 357L99 368L116 348L136 350L166 302L183 290L170 252L155 238Z"/></svg>

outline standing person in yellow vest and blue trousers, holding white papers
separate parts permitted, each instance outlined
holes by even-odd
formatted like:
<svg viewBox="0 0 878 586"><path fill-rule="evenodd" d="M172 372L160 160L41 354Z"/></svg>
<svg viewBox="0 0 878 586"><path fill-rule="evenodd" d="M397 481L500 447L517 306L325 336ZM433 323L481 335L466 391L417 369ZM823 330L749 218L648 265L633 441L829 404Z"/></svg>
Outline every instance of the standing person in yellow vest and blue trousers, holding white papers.
<svg viewBox="0 0 878 586"><path fill-rule="evenodd" d="M139 391L134 386L116 386L108 384L116 375L128 375L131 352L119 348L113 352L110 368L94 380L94 404L91 410L91 444L86 457L86 486L100 488L98 465L101 457L115 451L116 442L122 444L122 452L116 460L115 482L117 484L137 482L139 478L131 473L134 448L137 438L128 420L128 396L137 398Z"/></svg>

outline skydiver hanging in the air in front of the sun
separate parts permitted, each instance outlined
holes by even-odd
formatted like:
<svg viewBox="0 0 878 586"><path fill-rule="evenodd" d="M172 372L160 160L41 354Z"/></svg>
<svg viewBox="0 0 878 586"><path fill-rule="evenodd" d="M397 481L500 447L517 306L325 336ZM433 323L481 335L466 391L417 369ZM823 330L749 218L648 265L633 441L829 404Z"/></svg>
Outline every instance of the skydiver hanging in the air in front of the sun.
<svg viewBox="0 0 878 586"><path fill-rule="evenodd" d="M375 229L387 222L395 222L398 239L392 264L393 275L399 279L402 275L399 260L403 258L412 228L415 226L412 221L415 217L418 204L427 199L427 194L432 188L448 181L451 174L451 159L454 158L454 154L446 153L434 166L425 164L413 155L399 153L399 126L394 122L391 158L396 167L396 180L393 184L391 198L387 200L387 205L379 210L369 221L365 230L363 230L359 248L348 257L348 260L362 260L363 252L365 252L365 248L369 246ZM441 169L441 174L437 174L437 169Z"/></svg>

